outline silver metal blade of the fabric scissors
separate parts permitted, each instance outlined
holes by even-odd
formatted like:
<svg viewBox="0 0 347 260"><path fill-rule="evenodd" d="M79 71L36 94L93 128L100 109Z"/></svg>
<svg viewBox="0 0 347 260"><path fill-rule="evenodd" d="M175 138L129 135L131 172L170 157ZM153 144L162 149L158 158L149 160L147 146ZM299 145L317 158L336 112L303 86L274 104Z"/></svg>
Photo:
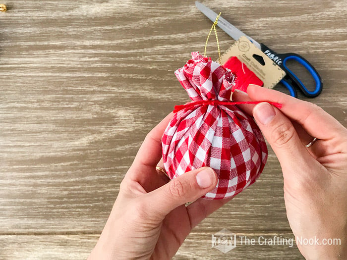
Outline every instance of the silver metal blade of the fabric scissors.
<svg viewBox="0 0 347 260"><path fill-rule="evenodd" d="M205 14L211 21L215 21L217 17L217 13L212 11L210 8L206 7L202 3L195 1L195 6L198 8L203 14ZM259 50L261 50L260 44L253 40L248 35L242 33L240 30L238 30L235 26L233 26L230 22L228 22L226 19L224 19L222 16L218 20L219 28L221 28L223 31L225 31L231 38L233 38L235 41L237 41L241 36L246 36L248 40L250 40Z"/></svg>

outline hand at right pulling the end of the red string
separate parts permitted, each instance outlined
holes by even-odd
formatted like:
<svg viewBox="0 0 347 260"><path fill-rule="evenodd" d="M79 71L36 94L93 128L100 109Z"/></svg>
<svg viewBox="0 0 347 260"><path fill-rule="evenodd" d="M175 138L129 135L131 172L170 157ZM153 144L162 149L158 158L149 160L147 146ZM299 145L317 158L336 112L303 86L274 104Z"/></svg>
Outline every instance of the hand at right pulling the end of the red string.
<svg viewBox="0 0 347 260"><path fill-rule="evenodd" d="M233 101L283 105L240 107L253 114L280 161L287 217L298 249L307 260L346 260L347 129L315 104L255 85L247 92L234 92ZM318 140L306 148L313 137ZM315 238L322 245L304 245L304 239ZM334 238L341 245L323 245L329 243L324 239Z"/></svg>

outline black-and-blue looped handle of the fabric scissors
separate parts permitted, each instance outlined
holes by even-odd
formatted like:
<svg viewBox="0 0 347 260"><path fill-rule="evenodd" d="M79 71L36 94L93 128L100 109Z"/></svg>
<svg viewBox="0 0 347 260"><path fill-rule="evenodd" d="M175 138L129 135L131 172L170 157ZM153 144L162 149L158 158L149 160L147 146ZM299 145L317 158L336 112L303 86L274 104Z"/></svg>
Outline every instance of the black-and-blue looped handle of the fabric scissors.
<svg viewBox="0 0 347 260"><path fill-rule="evenodd" d="M287 88L288 84L291 85L291 87L297 87L301 90L301 92L308 98L315 98L317 97L321 92L322 92L322 79L319 76L318 72L316 69L309 63L304 57L296 54L296 53L285 53L285 54L279 54L279 56L282 58L282 64L280 64L280 67L287 73L286 77L284 78L283 83ZM306 86L302 83L302 81L287 67L287 61L288 60L295 60L299 62L301 65L303 65L308 72L312 75L316 87L314 91L310 91L306 88ZM290 90L289 90L290 91ZM291 95L291 93L290 93ZM293 95L291 95L293 96Z"/></svg>

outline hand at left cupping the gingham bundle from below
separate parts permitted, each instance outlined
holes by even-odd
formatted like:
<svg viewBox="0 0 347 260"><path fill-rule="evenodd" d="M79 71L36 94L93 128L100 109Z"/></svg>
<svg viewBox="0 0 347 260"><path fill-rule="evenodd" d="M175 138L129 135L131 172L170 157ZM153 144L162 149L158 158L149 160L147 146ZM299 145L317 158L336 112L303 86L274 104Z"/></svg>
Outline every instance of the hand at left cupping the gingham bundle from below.
<svg viewBox="0 0 347 260"><path fill-rule="evenodd" d="M146 136L88 260L171 259L192 228L230 200L200 198L217 185L217 175L209 167L170 182L156 170L161 138L172 117L169 114Z"/></svg>

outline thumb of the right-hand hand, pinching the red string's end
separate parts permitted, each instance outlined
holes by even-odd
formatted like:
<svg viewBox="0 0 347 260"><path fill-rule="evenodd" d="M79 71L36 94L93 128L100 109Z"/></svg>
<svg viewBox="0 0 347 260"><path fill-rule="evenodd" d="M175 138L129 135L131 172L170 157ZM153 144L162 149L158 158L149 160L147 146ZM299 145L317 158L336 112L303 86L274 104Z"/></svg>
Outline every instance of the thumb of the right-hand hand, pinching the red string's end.
<svg viewBox="0 0 347 260"><path fill-rule="evenodd" d="M311 156L301 143L289 118L279 109L263 102L254 106L253 116L283 170L294 170L307 164Z"/></svg>

